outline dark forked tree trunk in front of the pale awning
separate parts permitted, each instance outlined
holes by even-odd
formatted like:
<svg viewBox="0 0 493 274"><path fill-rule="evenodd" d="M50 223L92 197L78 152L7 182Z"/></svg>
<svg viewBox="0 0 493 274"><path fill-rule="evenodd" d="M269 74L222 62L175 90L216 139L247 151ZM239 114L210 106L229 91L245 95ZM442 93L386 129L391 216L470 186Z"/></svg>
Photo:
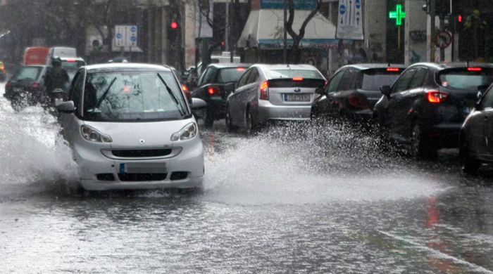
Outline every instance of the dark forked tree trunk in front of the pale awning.
<svg viewBox="0 0 493 274"><path fill-rule="evenodd" d="M314 0L315 1L315 0ZM315 17L315 15L320 11L320 6L322 5L322 0L316 0L316 6L315 8L308 14L308 17L305 18L303 23L301 24L301 27L299 28L298 33L294 32L293 30L293 22L294 22L294 3L293 0L288 0L288 7L289 7L289 17L287 21L285 22L285 28L287 33L289 34L290 37L293 39L293 45L291 49L289 50L289 56L292 56L292 63L299 63L301 60L301 51L299 50L299 44L301 42L301 39L305 37L305 28L306 25L308 25L308 22Z"/></svg>

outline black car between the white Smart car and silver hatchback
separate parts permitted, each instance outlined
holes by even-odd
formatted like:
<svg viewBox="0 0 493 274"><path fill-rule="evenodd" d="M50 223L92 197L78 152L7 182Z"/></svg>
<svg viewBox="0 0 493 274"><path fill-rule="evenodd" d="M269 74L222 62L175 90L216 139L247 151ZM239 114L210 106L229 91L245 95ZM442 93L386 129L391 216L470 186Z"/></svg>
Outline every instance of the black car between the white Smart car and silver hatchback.
<svg viewBox="0 0 493 274"><path fill-rule="evenodd" d="M204 126L210 128L214 120L226 117L226 98L235 90L235 82L248 67L245 64L216 63L208 65L201 74L192 98L200 98L207 103L205 110L195 113L204 119Z"/></svg>

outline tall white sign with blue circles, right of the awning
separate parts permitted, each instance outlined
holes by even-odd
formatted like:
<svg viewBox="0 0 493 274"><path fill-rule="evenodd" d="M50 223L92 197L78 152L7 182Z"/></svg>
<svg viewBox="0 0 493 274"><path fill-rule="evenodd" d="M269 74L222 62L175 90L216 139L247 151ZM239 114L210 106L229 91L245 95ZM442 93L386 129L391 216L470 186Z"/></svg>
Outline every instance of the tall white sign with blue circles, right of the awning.
<svg viewBox="0 0 493 274"><path fill-rule="evenodd" d="M363 40L363 11L361 0L339 0L337 39Z"/></svg>

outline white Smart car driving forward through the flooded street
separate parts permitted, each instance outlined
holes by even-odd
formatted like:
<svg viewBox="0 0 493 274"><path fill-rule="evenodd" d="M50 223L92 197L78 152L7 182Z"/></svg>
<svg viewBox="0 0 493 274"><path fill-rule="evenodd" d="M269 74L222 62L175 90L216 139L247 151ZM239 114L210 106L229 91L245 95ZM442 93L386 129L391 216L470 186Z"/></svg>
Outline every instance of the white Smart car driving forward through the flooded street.
<svg viewBox="0 0 493 274"><path fill-rule="evenodd" d="M201 188L204 148L168 67L81 67L57 109L86 190Z"/></svg>

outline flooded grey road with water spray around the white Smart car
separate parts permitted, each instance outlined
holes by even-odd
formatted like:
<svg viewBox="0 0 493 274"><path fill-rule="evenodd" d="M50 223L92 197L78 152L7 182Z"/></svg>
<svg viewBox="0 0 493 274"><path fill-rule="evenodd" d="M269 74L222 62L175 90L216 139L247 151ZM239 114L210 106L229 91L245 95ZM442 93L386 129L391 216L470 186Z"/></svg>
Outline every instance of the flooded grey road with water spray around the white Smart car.
<svg viewBox="0 0 493 274"><path fill-rule="evenodd" d="M416 163L340 125L219 121L204 193L85 193L58 130L0 96L0 273L493 273L493 176L454 150Z"/></svg>

